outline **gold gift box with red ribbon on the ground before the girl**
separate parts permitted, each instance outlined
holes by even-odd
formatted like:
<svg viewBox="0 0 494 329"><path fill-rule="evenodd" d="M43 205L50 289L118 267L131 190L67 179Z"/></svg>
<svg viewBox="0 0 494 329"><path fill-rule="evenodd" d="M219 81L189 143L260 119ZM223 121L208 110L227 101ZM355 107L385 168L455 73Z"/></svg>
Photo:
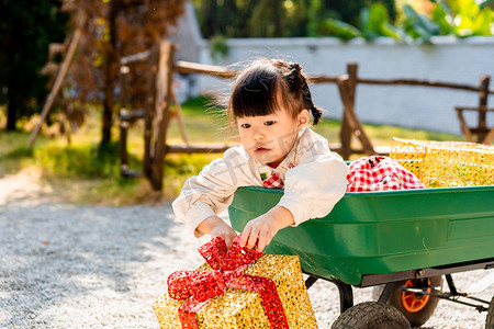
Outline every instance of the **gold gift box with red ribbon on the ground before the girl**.
<svg viewBox="0 0 494 329"><path fill-rule="evenodd" d="M228 250L228 253L235 249L238 241L239 239L237 238ZM216 242L217 241L212 241L210 243L215 245ZM244 249L240 248L237 250L244 254ZM203 252L201 253L204 256ZM256 260L252 262L249 261L248 264L227 264L220 270L218 268L221 268L221 265L217 265L217 259L212 258L207 260L206 258L206 263L201 265L197 271L181 271L180 273L171 274L168 279L168 294L165 294L153 304L159 327L215 329L317 328L305 282L302 276L299 257L260 253L258 257L254 258ZM212 265L215 269L213 269ZM211 283L211 277L217 275L224 276L223 279L218 279L220 283L223 281L226 282L224 293L220 292L220 294L212 298L203 298L202 292L195 297L188 297L187 290L198 290L197 277L200 277L204 272L210 272L210 279L200 279L199 281L206 281L207 290L210 291L222 291L221 284ZM221 272L223 274L218 274ZM190 283L190 281L193 281L190 287L184 288L186 293L183 291L177 292L176 287L172 287L170 291L170 286L173 285L173 282L170 283L170 279L172 279L173 275L176 279L175 285L178 286L180 286L180 282ZM195 275L197 277L190 279L188 275ZM240 277L234 279L234 284L228 284L233 276ZM276 287L272 287L273 290L270 287L259 290L262 294L251 291L251 287L248 287L248 281L257 283L259 280L266 280L268 282L272 281ZM177 282L179 282L179 284L177 284ZM228 285L234 285L236 287L231 287ZM242 288L238 288L239 286L242 286ZM181 294L183 294L183 296L181 296ZM189 299L179 300L176 299L177 296ZM179 309L183 308L183 304L189 303L191 299L195 300L195 304L191 307L193 314L189 314L191 317L189 318L189 324L187 324L187 320L186 322L183 319L181 320ZM281 305L278 305L277 303L281 303Z"/></svg>

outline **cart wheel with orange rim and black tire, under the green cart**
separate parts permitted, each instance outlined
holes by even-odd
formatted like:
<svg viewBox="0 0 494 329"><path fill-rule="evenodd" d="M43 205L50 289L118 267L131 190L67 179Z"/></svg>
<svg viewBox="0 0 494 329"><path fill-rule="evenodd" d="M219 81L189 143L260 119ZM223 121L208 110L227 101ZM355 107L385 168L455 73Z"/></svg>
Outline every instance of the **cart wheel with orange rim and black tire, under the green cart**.
<svg viewBox="0 0 494 329"><path fill-rule="evenodd" d="M440 291L434 287L441 287L442 277L439 275L425 280L406 280L402 284L397 284L391 293L388 304L403 313L412 327L420 327L433 316L439 303L439 297L403 292L403 285L414 288L427 288L428 293L439 293Z"/></svg>

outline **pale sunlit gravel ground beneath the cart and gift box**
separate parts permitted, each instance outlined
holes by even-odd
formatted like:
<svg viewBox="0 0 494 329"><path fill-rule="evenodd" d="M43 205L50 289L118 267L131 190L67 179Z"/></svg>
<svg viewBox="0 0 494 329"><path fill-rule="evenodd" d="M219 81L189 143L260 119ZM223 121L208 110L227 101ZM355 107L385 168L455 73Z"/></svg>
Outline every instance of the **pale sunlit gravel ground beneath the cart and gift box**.
<svg viewBox="0 0 494 329"><path fill-rule="evenodd" d="M169 204L89 207L0 202L0 328L158 328L151 303L176 270L202 263L194 239ZM463 287L485 275L454 275ZM338 315L333 284L311 300L321 328ZM356 303L371 290L356 290ZM491 298L494 287L479 295ZM484 328L485 313L439 303L423 328Z"/></svg>

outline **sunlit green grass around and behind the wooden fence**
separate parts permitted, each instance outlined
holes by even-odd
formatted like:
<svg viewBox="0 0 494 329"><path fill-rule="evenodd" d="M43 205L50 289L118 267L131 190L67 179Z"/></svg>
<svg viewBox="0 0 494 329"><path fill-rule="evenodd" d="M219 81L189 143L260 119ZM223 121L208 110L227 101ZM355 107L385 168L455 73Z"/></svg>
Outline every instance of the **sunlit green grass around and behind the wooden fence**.
<svg viewBox="0 0 494 329"><path fill-rule="evenodd" d="M189 141L237 143L225 115L209 104L205 98L197 98L182 104ZM315 131L330 143L338 143L339 125L337 121L325 120ZM390 145L393 136L429 140L463 139L457 135L383 125L364 125L364 131L374 145ZM112 133L116 140L116 125ZM183 143L177 121L171 122L168 136L170 144ZM48 138L40 135L34 148L29 148L29 132L5 133L0 129L0 179L35 169L41 172L41 183L49 185L53 194L61 195L64 202L77 204L125 205L171 201L190 175L199 173L205 164L221 157L220 154L169 155L165 162L164 192L155 193L145 179L121 178L117 141L103 149L99 146L98 109L90 109L88 122L72 135L70 145L64 137ZM357 138L352 143L358 147ZM142 170L143 147L143 124L137 123L132 126L128 135L131 169Z"/></svg>

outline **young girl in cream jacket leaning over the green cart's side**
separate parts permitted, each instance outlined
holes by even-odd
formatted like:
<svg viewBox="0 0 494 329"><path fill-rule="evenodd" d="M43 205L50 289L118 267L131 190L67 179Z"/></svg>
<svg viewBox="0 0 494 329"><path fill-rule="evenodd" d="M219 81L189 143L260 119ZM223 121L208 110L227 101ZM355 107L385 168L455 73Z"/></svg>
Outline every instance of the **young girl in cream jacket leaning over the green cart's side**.
<svg viewBox="0 0 494 329"><path fill-rule="evenodd" d="M212 161L190 178L173 202L173 212L195 237L221 236L229 246L237 236L217 214L239 186L283 189L268 213L245 227L240 246L262 251L282 228L326 216L344 196L347 164L332 152L327 140L311 131L322 111L314 106L297 64L257 60L237 77L227 106L242 146Z"/></svg>

